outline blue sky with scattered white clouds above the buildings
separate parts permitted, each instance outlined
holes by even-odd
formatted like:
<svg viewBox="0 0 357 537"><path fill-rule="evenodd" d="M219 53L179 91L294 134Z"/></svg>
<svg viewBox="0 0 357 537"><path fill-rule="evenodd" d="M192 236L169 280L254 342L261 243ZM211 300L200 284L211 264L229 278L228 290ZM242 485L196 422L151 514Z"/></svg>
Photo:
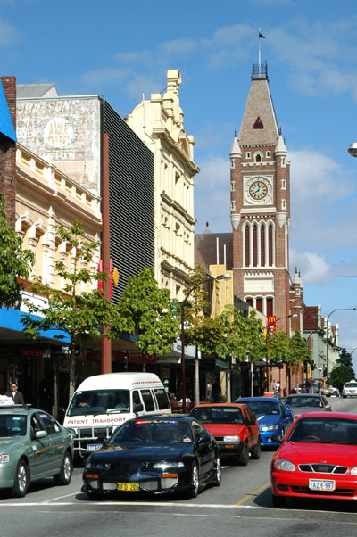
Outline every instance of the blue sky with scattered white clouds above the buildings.
<svg viewBox="0 0 357 537"><path fill-rule="evenodd" d="M292 161L290 270L323 315L357 306L357 15L355 0L0 0L1 74L99 94L125 117L181 70L180 103L195 137L196 232L231 230L229 158L250 87L267 60ZM340 345L357 347L357 312L337 311ZM353 353L357 363L357 351ZM357 372L357 368L356 368Z"/></svg>

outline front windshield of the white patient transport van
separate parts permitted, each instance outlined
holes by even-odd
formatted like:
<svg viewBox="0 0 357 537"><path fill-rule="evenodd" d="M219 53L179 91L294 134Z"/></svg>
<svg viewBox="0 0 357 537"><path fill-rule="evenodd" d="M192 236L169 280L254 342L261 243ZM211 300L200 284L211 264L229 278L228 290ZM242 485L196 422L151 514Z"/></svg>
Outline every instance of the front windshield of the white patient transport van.
<svg viewBox="0 0 357 537"><path fill-rule="evenodd" d="M67 416L126 413L130 410L129 390L88 390L76 392Z"/></svg>

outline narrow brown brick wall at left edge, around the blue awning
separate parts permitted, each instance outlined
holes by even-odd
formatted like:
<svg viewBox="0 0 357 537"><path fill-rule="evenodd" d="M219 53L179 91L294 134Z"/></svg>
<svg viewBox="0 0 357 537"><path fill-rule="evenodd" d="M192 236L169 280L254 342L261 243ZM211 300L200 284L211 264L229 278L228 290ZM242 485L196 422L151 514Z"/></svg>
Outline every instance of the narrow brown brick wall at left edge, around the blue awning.
<svg viewBox="0 0 357 537"><path fill-rule="evenodd" d="M16 132L16 78L0 77L13 127ZM6 218L12 228L15 227L16 194L16 144L0 133L0 192L4 199Z"/></svg>

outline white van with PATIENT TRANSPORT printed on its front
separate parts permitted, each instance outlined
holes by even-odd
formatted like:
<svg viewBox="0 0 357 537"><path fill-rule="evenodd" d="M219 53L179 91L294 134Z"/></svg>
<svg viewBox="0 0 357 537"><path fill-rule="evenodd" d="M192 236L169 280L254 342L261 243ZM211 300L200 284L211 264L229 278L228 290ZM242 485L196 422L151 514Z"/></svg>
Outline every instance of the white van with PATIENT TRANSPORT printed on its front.
<svg viewBox="0 0 357 537"><path fill-rule="evenodd" d="M103 447L100 439L109 438L127 419L170 412L169 397L154 373L108 373L79 384L63 426L75 431L75 456L84 459Z"/></svg>

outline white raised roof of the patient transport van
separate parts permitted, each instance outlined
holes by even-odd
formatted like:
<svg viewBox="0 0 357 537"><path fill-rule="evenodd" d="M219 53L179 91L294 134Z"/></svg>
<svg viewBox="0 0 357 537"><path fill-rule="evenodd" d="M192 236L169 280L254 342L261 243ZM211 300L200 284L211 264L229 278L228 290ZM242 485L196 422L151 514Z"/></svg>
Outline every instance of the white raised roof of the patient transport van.
<svg viewBox="0 0 357 537"><path fill-rule="evenodd" d="M77 388L76 392L84 390L101 390L103 388L118 388L129 390L142 386L162 386L162 381L154 373L106 373L104 375L88 376Z"/></svg>

